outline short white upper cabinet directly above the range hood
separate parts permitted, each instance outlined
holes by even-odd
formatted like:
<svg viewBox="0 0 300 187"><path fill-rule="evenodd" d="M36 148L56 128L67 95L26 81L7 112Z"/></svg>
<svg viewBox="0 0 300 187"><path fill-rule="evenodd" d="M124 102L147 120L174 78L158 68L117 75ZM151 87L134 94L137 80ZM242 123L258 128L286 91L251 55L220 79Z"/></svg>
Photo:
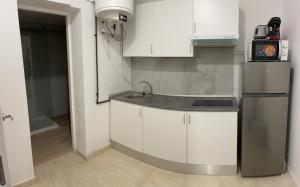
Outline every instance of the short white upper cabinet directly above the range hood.
<svg viewBox="0 0 300 187"><path fill-rule="evenodd" d="M193 39L239 38L239 0L194 0Z"/></svg>

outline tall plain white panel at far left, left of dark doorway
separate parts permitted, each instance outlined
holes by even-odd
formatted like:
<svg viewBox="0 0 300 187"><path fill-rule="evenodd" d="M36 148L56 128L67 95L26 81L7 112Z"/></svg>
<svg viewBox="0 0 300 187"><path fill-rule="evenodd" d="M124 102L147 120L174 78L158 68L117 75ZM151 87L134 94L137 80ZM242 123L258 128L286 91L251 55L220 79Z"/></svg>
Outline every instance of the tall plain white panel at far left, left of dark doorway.
<svg viewBox="0 0 300 187"><path fill-rule="evenodd" d="M17 0L0 6L0 105L12 185L34 178ZM2 128L1 127L1 128Z"/></svg>

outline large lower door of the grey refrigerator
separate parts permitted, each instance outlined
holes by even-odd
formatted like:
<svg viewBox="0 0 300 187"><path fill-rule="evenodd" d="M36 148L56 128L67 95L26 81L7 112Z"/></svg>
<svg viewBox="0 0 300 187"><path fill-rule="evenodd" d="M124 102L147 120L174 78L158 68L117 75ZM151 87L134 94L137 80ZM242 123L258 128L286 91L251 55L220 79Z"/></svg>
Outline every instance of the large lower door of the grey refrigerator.
<svg viewBox="0 0 300 187"><path fill-rule="evenodd" d="M288 97L244 97L242 105L242 176L284 173Z"/></svg>

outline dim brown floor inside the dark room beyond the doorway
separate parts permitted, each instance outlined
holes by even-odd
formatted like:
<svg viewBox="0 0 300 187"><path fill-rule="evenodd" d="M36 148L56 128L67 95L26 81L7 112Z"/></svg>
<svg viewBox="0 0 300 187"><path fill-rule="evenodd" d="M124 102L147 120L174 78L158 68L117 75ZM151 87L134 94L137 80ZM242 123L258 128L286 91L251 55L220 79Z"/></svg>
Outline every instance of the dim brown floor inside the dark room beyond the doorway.
<svg viewBox="0 0 300 187"><path fill-rule="evenodd" d="M55 117L59 128L31 136L35 166L73 151L69 119L68 114Z"/></svg>

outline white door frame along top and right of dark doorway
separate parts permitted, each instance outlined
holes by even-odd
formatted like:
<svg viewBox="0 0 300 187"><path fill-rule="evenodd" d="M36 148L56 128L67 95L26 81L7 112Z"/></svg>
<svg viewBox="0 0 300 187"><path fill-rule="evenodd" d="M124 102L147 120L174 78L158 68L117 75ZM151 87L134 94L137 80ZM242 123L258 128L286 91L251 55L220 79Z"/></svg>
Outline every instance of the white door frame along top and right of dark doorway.
<svg viewBox="0 0 300 187"><path fill-rule="evenodd" d="M72 41L71 41L71 19L74 16L74 12L70 11L57 11L53 9L44 9L31 6L22 6L18 4L18 9L41 12L47 14L61 15L66 17L66 36L67 36L67 53L68 53L68 82L69 82L69 100L70 100L70 122L71 122L71 134L72 134L72 147L76 151L76 120L75 120L75 103L74 103L74 73L73 73L73 60L72 60ZM78 12L77 12L78 13Z"/></svg>

